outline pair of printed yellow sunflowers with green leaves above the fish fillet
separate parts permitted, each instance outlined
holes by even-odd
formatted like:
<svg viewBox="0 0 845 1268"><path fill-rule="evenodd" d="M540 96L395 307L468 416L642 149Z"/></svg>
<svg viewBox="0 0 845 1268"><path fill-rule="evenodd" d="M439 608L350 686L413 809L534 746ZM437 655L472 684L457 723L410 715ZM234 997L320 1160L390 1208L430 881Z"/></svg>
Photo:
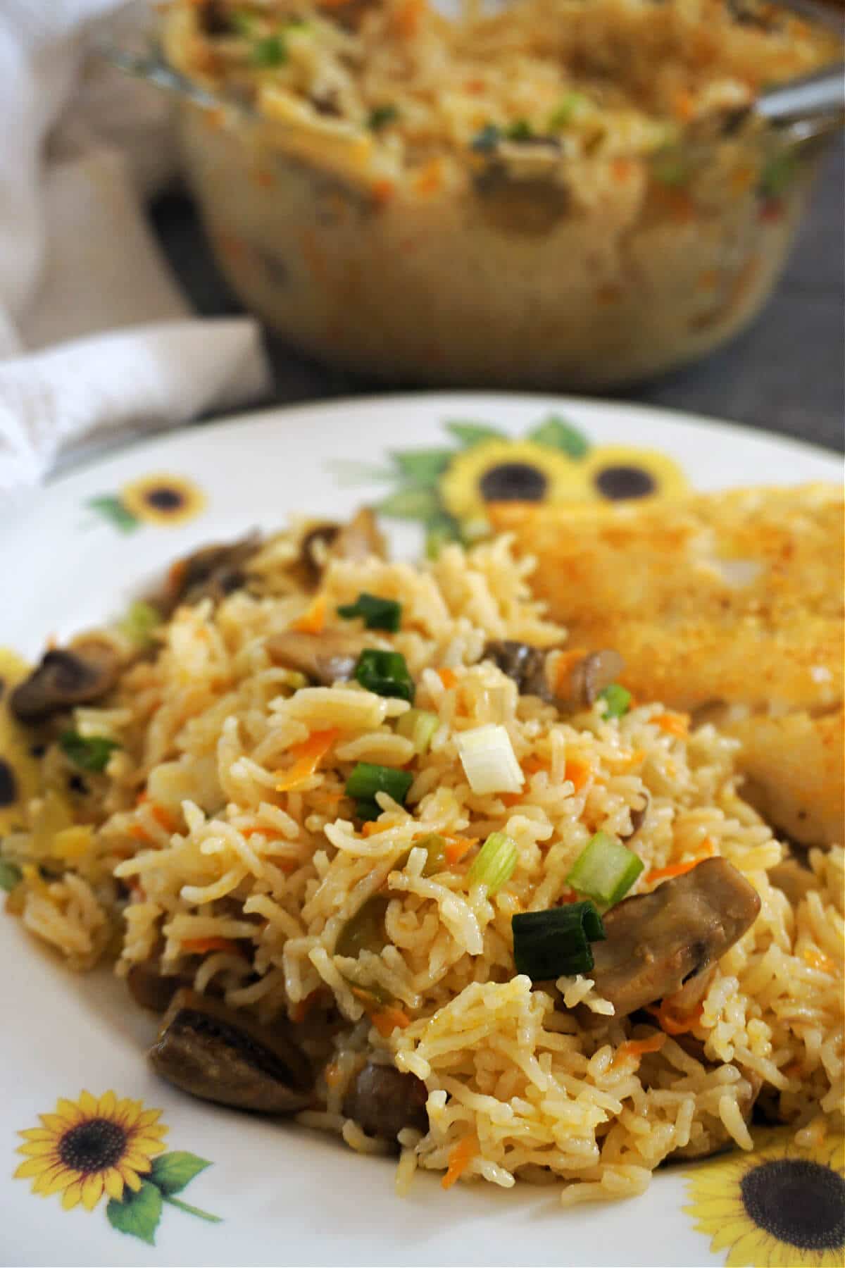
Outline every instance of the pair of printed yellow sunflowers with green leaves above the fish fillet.
<svg viewBox="0 0 845 1268"><path fill-rule="evenodd" d="M550 415L518 440L485 422L454 420L445 429L452 437L448 448L394 450L389 469L333 464L353 481L395 482L395 492L375 510L419 521L429 553L442 541L484 536L490 502L642 500L687 489L683 472L665 454L630 445L593 446L559 415Z"/></svg>

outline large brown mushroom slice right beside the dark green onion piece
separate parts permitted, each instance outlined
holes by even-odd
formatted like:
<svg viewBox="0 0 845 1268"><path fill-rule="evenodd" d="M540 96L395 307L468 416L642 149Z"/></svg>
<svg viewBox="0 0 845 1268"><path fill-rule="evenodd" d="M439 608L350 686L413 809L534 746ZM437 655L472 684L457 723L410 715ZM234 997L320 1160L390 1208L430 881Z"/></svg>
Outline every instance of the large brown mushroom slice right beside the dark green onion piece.
<svg viewBox="0 0 845 1268"><path fill-rule="evenodd" d="M707 858L604 915L607 941L593 943L595 990L616 1017L675 995L716 964L759 912L760 895L745 876L725 858Z"/></svg>

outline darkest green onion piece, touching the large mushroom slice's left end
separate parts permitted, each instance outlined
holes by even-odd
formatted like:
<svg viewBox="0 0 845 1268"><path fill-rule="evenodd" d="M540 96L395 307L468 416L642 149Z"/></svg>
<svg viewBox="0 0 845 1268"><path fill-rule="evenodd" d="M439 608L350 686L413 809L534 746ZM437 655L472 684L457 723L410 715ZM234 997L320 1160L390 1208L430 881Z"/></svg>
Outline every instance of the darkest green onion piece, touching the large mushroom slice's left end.
<svg viewBox="0 0 845 1268"><path fill-rule="evenodd" d="M607 935L592 903L568 903L549 912L512 917L513 960L517 973L532 981L589 973L595 960L590 942Z"/></svg>

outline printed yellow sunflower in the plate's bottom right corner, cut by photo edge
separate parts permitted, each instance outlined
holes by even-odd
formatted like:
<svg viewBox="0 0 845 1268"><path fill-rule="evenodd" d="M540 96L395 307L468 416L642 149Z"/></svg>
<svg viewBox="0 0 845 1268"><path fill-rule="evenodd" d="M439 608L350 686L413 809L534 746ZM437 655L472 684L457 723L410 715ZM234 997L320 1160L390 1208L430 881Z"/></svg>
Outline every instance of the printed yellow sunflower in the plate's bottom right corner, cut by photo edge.
<svg viewBox="0 0 845 1268"><path fill-rule="evenodd" d="M726 1268L841 1268L845 1263L845 1146L820 1132L799 1146L773 1131L751 1154L687 1173L684 1207Z"/></svg>

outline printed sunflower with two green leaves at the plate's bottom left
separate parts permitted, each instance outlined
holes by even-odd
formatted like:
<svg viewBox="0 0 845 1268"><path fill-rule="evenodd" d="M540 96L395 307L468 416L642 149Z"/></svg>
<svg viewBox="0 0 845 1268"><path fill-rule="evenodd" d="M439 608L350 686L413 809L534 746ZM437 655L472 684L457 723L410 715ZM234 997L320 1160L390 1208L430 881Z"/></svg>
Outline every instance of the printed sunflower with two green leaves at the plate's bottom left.
<svg viewBox="0 0 845 1268"><path fill-rule="evenodd" d="M61 1194L62 1207L92 1211L104 1196L109 1224L119 1232L155 1245L165 1203L187 1215L219 1224L219 1216L182 1202L181 1193L212 1164L184 1150L165 1153L167 1126L161 1110L104 1092L98 1099L80 1092L63 1097L52 1113L42 1113L41 1127L20 1131L24 1155L15 1179L32 1181L33 1193Z"/></svg>

